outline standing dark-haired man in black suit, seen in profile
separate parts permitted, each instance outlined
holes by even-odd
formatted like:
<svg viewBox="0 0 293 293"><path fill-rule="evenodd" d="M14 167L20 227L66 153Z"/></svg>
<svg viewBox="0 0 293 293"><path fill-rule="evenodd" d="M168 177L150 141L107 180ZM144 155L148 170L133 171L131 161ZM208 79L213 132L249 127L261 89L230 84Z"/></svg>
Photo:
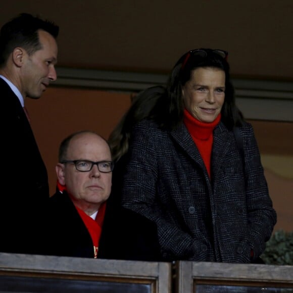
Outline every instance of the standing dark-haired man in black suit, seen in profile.
<svg viewBox="0 0 293 293"><path fill-rule="evenodd" d="M0 31L0 251L34 253L40 208L49 197L47 171L24 110L55 81L59 27L21 14ZM4 113L5 112L5 113Z"/></svg>

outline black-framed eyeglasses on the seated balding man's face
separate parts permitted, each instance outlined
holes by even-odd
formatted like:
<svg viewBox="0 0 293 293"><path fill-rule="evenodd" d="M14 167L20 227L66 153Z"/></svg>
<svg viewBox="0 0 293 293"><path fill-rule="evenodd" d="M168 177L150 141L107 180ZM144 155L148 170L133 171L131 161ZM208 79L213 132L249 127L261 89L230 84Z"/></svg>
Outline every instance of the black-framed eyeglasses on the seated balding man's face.
<svg viewBox="0 0 293 293"><path fill-rule="evenodd" d="M72 163L75 165L77 171L80 172L88 172L92 169L93 165L97 166L102 173L110 173L114 169L114 162L113 161L100 161L100 162L92 162L87 160L65 160L61 162L62 164Z"/></svg>

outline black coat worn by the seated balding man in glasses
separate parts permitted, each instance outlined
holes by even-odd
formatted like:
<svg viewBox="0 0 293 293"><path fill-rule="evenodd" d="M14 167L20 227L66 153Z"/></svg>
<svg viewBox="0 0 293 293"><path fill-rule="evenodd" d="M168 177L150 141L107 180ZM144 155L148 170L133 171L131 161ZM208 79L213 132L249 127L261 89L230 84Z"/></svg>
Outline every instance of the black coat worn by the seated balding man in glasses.
<svg viewBox="0 0 293 293"><path fill-rule="evenodd" d="M93 258L90 234L66 191L49 200L41 254ZM156 226L148 219L107 202L97 258L153 261L158 259Z"/></svg>

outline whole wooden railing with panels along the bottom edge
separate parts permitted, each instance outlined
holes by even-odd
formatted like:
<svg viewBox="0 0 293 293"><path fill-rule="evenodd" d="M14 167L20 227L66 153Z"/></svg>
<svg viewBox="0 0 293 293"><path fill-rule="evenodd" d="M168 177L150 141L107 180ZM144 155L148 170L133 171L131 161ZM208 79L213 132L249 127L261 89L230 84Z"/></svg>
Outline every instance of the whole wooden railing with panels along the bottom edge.
<svg viewBox="0 0 293 293"><path fill-rule="evenodd" d="M0 253L0 292L293 292L293 266Z"/></svg>

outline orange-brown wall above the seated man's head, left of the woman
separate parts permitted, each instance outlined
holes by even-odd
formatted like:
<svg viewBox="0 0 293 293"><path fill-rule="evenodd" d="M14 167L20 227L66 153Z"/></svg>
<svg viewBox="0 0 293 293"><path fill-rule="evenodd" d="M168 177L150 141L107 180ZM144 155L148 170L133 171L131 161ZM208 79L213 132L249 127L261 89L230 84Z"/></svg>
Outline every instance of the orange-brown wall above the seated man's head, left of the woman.
<svg viewBox="0 0 293 293"><path fill-rule="evenodd" d="M49 88L39 100L27 99L31 125L55 192L55 165L60 142L70 133L89 129L108 138L130 105L129 94L92 89Z"/></svg>

